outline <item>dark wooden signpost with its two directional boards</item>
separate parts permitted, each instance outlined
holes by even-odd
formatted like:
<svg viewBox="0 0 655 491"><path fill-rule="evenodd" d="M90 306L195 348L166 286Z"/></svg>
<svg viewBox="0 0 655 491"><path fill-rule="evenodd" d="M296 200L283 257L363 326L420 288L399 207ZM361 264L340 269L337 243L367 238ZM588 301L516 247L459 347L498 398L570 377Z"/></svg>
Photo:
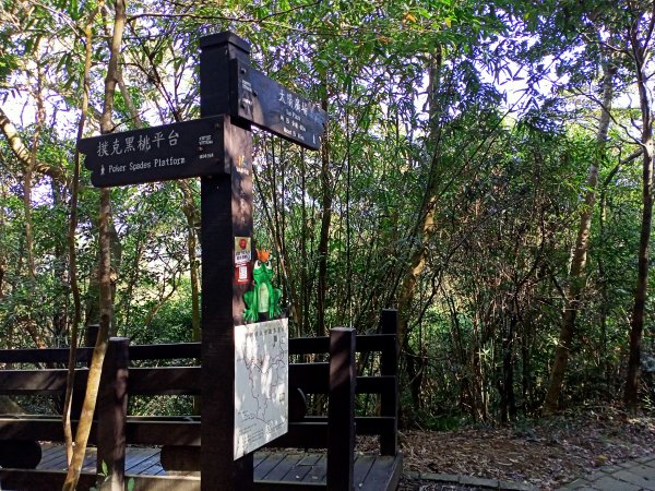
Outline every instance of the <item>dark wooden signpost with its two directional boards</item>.
<svg viewBox="0 0 655 491"><path fill-rule="evenodd" d="M235 460L233 438L234 332L251 279L235 246L252 237L250 125L318 149L326 115L254 70L238 36L206 36L200 48L201 119L84 139L79 148L100 188L201 177L201 489L251 491L252 453Z"/></svg>

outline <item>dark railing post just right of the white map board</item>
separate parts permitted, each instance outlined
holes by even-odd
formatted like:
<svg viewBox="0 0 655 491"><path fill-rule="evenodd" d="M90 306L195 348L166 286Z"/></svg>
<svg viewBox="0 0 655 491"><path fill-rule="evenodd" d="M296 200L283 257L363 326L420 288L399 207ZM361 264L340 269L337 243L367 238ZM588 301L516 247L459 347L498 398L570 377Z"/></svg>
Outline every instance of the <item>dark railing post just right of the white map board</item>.
<svg viewBox="0 0 655 491"><path fill-rule="evenodd" d="M331 330L327 491L352 491L354 488L355 371L355 330Z"/></svg>

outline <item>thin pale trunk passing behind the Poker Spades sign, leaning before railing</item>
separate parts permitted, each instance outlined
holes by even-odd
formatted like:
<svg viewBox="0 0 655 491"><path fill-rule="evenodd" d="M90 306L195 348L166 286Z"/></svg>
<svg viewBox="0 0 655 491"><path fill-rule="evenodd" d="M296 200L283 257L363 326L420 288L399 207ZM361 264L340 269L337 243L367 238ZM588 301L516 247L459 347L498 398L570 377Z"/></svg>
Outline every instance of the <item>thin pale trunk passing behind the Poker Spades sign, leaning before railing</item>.
<svg viewBox="0 0 655 491"><path fill-rule="evenodd" d="M114 130L111 113L114 109L114 93L118 81L118 60L120 56L120 45L126 24L126 4L123 0L116 0L116 19L114 22L114 34L111 38L111 49L109 56L109 65L107 68L107 77L105 79L105 103L103 117L100 119L100 132L108 133ZM107 351L107 342L109 337L111 318L112 318L112 287L111 287L111 202L109 190L100 190L100 211L99 211L99 287L100 287L100 328L96 340L95 349L88 371L88 382L84 395L84 404L80 423L75 435L75 446L73 458L69 465L63 491L73 491L80 479L86 444L91 433L93 414L95 411L96 399L103 372L103 362ZM108 483L118 486L120 483ZM102 487L102 484L100 484Z"/></svg>

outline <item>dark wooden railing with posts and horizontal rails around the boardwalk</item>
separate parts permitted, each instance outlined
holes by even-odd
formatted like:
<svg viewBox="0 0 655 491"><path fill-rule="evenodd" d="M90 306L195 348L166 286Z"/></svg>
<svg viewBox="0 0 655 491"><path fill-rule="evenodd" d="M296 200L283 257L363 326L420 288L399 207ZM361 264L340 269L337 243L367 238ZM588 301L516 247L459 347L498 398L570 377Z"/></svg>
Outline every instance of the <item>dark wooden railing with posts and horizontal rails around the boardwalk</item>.
<svg viewBox="0 0 655 491"><path fill-rule="evenodd" d="M397 312L386 310L382 312L380 334L357 336L352 328L336 328L329 337L289 339L289 355L305 358L326 355L323 358L329 361L289 363L293 395L289 431L270 446L326 448L327 490L353 489L355 434L379 436L382 455L397 453L396 330ZM357 376L357 352L379 354L374 375ZM91 355L92 348L80 348L78 361L88 362ZM68 357L66 348L0 350L0 363L55 364L66 363ZM200 344L130 346L127 338L109 342L90 443L97 445L98 468L104 463L120 482L127 444L162 445L165 468L202 470L200 418L128 416L128 395L200 395L201 367L130 367L134 361L164 359L199 360ZM87 368L75 370L79 393L85 388L87 375ZM0 370L0 395L59 395L66 391L66 380L64 369ZM310 394L327 396L326 415L305 414L303 396ZM357 394L379 395L377 412L355 416ZM23 467L34 468L38 464L40 450L35 447L36 441L62 442L60 418L0 417L0 446L27 448L25 456L31 458L17 459L24 463ZM2 458L0 452L0 466L8 467ZM16 458L10 464L15 462Z"/></svg>

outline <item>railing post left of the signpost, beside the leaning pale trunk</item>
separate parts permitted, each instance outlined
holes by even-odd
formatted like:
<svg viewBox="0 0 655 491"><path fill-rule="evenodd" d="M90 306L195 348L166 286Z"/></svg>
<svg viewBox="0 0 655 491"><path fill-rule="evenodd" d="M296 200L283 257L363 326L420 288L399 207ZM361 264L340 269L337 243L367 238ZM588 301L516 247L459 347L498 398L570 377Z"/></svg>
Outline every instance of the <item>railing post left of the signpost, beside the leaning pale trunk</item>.
<svg viewBox="0 0 655 491"><path fill-rule="evenodd" d="M127 337L110 338L103 366L96 414L98 488L104 491L124 489L129 346Z"/></svg>

